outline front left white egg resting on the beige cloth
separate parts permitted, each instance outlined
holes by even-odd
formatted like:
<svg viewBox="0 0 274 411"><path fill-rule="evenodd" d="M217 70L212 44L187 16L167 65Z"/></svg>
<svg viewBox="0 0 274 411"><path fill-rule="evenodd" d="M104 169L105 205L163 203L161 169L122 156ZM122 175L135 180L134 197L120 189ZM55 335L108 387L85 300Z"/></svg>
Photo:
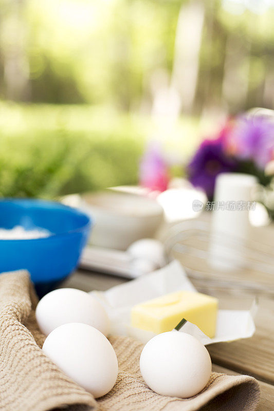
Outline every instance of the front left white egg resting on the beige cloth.
<svg viewBox="0 0 274 411"><path fill-rule="evenodd" d="M90 325L61 325L48 335L42 349L68 377L95 398L107 394L116 382L118 361L114 348Z"/></svg>

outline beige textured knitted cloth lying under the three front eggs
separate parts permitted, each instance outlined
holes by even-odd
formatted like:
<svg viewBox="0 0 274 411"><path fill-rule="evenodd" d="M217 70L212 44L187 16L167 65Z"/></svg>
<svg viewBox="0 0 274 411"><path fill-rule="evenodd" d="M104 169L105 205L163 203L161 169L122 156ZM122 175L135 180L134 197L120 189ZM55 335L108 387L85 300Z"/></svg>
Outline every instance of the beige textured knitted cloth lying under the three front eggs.
<svg viewBox="0 0 274 411"><path fill-rule="evenodd" d="M36 295L26 271L0 275L0 410L1 411L252 411L260 390L248 376L213 372L197 396L181 400L148 388L140 375L142 345L111 337L119 375L110 393L95 400L66 377L40 347L44 335L34 317Z"/></svg>

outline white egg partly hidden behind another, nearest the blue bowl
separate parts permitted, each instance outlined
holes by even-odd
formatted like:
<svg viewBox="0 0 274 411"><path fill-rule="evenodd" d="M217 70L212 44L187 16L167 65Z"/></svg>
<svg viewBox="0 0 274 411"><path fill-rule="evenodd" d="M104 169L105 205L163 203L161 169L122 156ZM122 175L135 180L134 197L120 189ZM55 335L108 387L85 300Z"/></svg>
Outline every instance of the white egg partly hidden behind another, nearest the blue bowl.
<svg viewBox="0 0 274 411"><path fill-rule="evenodd" d="M35 311L43 334L67 323L91 325L107 335L109 319L104 307L93 295L74 288L60 288L46 294Z"/></svg>

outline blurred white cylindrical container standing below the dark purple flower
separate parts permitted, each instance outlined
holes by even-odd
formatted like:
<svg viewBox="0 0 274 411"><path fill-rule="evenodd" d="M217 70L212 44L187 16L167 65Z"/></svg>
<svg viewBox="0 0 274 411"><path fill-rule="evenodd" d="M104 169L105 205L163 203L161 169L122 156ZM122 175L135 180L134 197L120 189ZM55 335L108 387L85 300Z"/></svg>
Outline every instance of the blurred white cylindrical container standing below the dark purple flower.
<svg viewBox="0 0 274 411"><path fill-rule="evenodd" d="M229 270L243 266L250 233L249 211L255 206L252 189L256 183L257 178L249 174L217 176L209 245L211 267Z"/></svg>

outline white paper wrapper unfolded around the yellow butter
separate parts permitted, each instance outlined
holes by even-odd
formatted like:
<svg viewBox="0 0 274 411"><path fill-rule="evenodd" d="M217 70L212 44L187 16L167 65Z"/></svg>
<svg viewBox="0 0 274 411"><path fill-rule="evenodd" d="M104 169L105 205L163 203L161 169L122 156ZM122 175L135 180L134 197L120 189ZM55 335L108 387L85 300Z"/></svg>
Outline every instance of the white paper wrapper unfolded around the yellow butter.
<svg viewBox="0 0 274 411"><path fill-rule="evenodd" d="M136 304L152 300L152 298L179 290L196 291L179 261L174 260L166 267L150 274L145 274L128 283L112 287L104 292L91 291L90 294L94 295L106 309L111 321L111 334L127 335L146 343L155 334L131 327L132 307ZM254 307L250 310L219 309L214 338L207 337L196 325L190 322L187 322L177 332L187 332L204 345L249 338L255 332L252 317L253 311Z"/></svg>

